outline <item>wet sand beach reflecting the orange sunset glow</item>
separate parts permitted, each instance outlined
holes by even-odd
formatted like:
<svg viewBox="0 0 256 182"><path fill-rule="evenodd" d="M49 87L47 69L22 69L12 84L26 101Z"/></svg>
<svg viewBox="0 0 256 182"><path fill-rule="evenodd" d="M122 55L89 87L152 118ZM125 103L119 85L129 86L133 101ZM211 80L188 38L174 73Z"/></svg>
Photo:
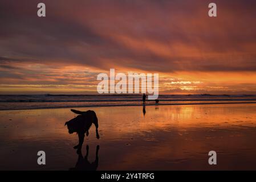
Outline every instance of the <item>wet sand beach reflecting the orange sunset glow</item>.
<svg viewBox="0 0 256 182"><path fill-rule="evenodd" d="M92 109L99 119L83 145L84 169L256 169L256 104L118 106ZM76 166L76 134L64 123L70 109L0 111L0 169L68 170ZM46 165L37 152L46 152ZM208 152L217 152L217 165Z"/></svg>

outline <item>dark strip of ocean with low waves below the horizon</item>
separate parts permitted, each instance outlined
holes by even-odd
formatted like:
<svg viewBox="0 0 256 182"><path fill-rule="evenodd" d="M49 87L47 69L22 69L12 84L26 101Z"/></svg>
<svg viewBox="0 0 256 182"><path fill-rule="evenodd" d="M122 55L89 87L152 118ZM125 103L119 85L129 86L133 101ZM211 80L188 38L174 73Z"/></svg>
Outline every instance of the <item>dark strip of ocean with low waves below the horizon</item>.
<svg viewBox="0 0 256 182"><path fill-rule="evenodd" d="M256 95L188 94L159 96L158 105L256 103ZM0 110L50 109L64 107L137 106L141 94L5 94L0 95ZM155 101L147 101L155 105Z"/></svg>

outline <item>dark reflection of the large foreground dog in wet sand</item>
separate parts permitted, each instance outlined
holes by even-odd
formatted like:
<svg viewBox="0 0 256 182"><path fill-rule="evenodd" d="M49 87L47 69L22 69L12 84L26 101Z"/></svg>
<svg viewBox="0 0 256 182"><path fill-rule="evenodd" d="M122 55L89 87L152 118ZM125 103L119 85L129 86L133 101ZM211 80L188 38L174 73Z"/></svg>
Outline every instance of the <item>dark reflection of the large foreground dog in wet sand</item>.
<svg viewBox="0 0 256 182"><path fill-rule="evenodd" d="M76 166L70 168L70 171L96 171L98 164L99 164L99 152L100 146L97 145L96 147L96 158L95 161L90 163L87 159L89 153L89 146L86 146L86 155L83 158L82 151L78 152L78 162L76 162Z"/></svg>

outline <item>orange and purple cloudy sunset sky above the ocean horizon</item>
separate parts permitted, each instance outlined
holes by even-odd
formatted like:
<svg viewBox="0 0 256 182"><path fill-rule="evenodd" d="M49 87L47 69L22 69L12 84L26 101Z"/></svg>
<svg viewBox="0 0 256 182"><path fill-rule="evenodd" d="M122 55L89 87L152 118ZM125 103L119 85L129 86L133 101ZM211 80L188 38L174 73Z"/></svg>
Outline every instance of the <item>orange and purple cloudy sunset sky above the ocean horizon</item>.
<svg viewBox="0 0 256 182"><path fill-rule="evenodd" d="M0 93L96 93L115 68L159 73L160 94L256 94L255 17L255 0L1 0Z"/></svg>

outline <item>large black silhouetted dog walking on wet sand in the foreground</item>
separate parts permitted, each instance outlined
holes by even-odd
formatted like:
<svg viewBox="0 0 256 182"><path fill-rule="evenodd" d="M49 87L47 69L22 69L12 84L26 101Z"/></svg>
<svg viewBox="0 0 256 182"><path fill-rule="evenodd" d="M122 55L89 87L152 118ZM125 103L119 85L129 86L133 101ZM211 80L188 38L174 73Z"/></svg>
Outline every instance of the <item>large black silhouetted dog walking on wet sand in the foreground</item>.
<svg viewBox="0 0 256 182"><path fill-rule="evenodd" d="M95 111L87 110L87 111L79 111L71 109L73 113L79 114L77 117L71 119L70 121L67 121L65 123L65 126L67 125L68 133L72 134L76 132L78 134L79 143L74 148L78 149L78 152L81 151L83 142L84 142L84 134L86 133L86 136L89 135L89 129L92 126L92 123L94 123L96 127L96 138L99 139L100 135L98 133L98 120Z"/></svg>

